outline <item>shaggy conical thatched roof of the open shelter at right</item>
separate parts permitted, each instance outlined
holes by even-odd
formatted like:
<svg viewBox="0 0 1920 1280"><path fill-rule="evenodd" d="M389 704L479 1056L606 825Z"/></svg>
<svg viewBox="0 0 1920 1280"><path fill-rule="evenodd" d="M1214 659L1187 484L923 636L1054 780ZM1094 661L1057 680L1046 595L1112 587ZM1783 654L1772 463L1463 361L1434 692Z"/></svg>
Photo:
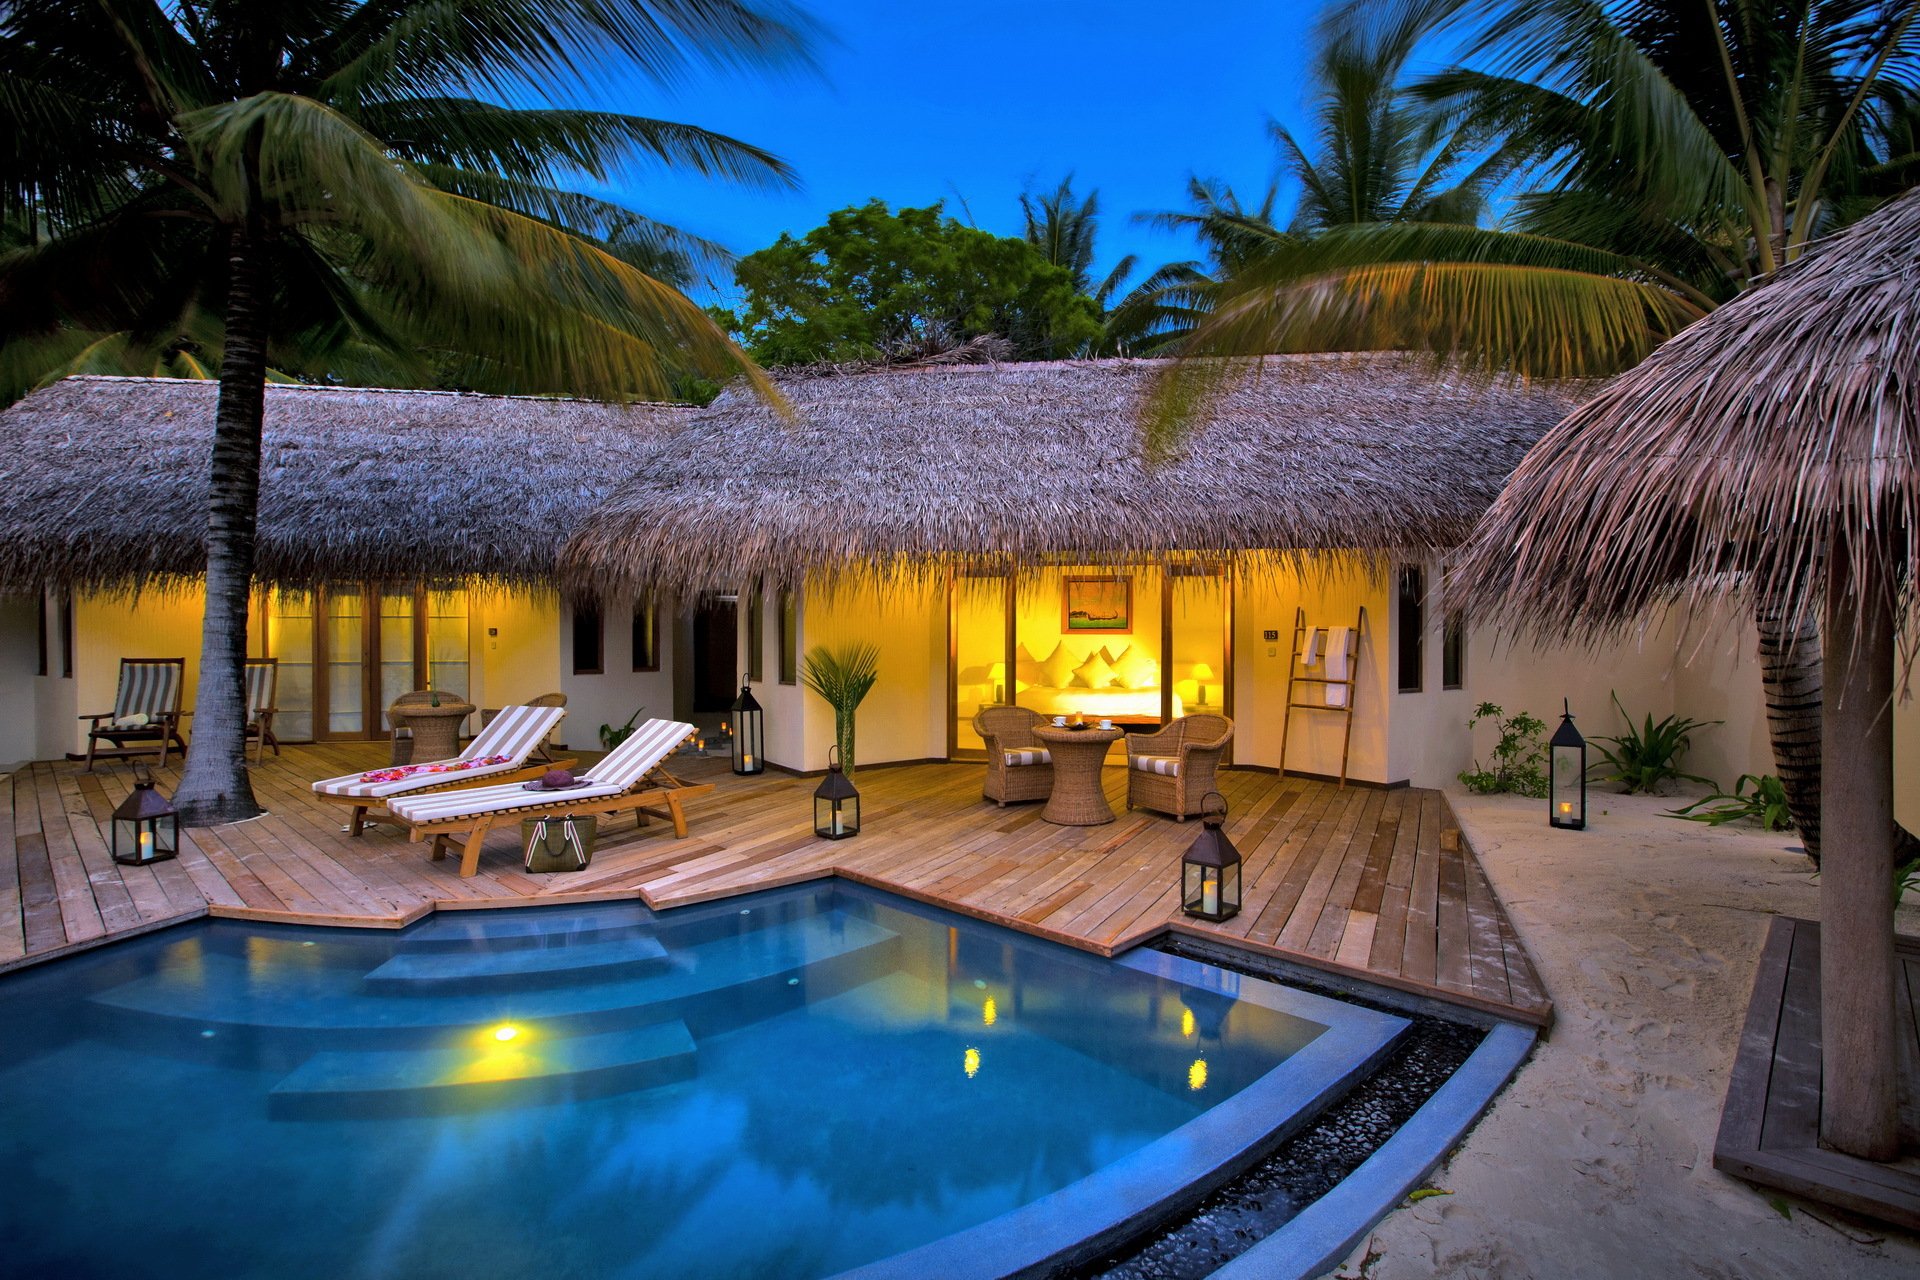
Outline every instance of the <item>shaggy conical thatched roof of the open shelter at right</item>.
<svg viewBox="0 0 1920 1280"><path fill-rule="evenodd" d="M1812 604L1811 557L1920 555L1920 192L1670 338L1526 455L1455 587L1594 635L1728 587Z"/></svg>

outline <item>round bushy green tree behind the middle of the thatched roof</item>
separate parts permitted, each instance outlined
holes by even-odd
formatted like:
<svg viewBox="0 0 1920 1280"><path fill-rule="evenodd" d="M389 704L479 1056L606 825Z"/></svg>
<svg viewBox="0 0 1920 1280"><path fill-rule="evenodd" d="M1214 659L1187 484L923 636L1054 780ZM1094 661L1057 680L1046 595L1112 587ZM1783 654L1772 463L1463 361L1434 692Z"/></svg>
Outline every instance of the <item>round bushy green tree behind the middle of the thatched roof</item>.
<svg viewBox="0 0 1920 1280"><path fill-rule="evenodd" d="M733 276L747 294L741 332L766 365L925 355L983 334L1010 340L1018 359L1058 359L1100 334L1068 267L943 205L839 209L749 253Z"/></svg>

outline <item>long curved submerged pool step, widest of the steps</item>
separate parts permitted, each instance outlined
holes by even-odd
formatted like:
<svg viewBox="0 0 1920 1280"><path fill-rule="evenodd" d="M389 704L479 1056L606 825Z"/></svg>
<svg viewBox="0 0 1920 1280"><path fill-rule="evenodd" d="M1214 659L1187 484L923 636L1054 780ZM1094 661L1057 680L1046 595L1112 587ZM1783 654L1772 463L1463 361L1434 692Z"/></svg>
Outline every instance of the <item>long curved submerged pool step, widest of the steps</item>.
<svg viewBox="0 0 1920 1280"><path fill-rule="evenodd" d="M707 1036L870 981L893 965L897 944L891 929L831 912L672 946L670 963L647 973L490 992L365 990L359 973L255 969L236 956L204 954L98 992L90 1006L100 1034L146 1032L207 1052L244 1052L263 1067L292 1067L298 1057L288 1059L288 1052L305 1057L321 1046L447 1048L505 1019L588 1034L678 1017Z"/></svg>

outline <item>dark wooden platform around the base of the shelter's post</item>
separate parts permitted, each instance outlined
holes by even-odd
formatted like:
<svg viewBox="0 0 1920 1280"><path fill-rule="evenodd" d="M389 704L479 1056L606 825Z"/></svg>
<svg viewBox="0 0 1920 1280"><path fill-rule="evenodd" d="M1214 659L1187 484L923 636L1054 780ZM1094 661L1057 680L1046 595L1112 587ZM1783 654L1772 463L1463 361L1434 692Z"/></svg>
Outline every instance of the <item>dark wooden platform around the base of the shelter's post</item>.
<svg viewBox="0 0 1920 1280"><path fill-rule="evenodd" d="M1820 925L1774 917L1753 979L1713 1167L1761 1186L1920 1230L1920 940L1899 938L1903 1159L1820 1146Z"/></svg>

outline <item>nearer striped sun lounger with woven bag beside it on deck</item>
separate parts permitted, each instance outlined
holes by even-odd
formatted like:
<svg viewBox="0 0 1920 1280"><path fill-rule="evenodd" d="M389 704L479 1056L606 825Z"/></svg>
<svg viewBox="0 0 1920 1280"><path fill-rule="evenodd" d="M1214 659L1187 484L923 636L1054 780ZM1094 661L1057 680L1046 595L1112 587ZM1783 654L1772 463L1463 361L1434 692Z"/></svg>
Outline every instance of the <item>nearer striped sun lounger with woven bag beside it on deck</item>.
<svg viewBox="0 0 1920 1280"><path fill-rule="evenodd" d="M474 787L396 798L388 812L413 829L415 841L434 842L434 862L447 856L449 844L461 846L461 875L480 869L480 844L493 823L522 818L559 818L566 814L636 814L664 818L674 823L674 837L687 835L687 816L682 802L707 794L712 783L687 785L668 773L662 762L699 729L676 720L649 720L632 737L614 747L588 770L570 791L528 791L524 785ZM659 808L664 804L666 808Z"/></svg>

